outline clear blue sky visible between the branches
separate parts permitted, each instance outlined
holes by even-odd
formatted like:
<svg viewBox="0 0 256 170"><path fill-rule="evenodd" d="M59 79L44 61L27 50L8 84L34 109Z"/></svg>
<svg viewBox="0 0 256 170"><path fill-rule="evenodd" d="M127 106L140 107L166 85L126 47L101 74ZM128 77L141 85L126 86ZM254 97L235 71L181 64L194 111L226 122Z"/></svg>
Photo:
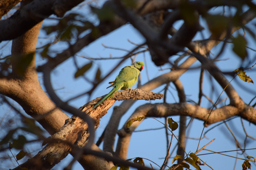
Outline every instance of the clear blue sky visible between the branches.
<svg viewBox="0 0 256 170"><path fill-rule="evenodd" d="M221 9L219 9L219 10L221 10ZM215 9L212 12L218 13L218 9ZM88 13L88 11L84 11L84 13L86 14L86 13ZM91 19L91 20L93 19L92 16L89 16L86 18ZM45 20L43 25L49 25L52 22L54 22L54 20ZM255 24L256 23L255 19L251 23ZM182 23L180 23L180 22L175 23L175 28L178 29L181 24ZM205 24L204 21L202 21L202 25L203 24ZM254 28L252 27L252 29L255 30L255 27ZM239 30L239 33L243 35L243 31ZM203 34L206 38L208 38L210 33L207 30L205 30L203 32ZM236 36L236 35L237 35L237 33L234 34L234 36ZM40 35L39 35L38 44L37 44L38 47L49 42L49 40L43 39L44 37L45 37L45 32L41 31ZM51 37L51 39L52 38L53 38L53 36ZM247 40L248 46L251 48L255 48L255 46L256 46L255 40L253 40L249 36L249 34L246 34L245 38ZM197 34L196 37L194 38L194 40L201 40L201 39L202 39L202 37L200 34ZM99 56L108 57L110 55L112 57L124 56L127 52L121 51L121 50L108 49L108 48L105 48L104 46L102 46L102 44L105 44L106 46L110 46L110 47L119 47L119 48L125 48L127 50L131 50L135 47L135 45L128 42L128 40L130 40L131 42L137 43L137 44L143 43L145 41L144 38L140 35L140 33L132 27L132 25L126 24L126 25L122 26L121 28L113 31L112 33L110 33L110 34L98 39L97 41L91 43L90 45L84 47L77 54L83 55L83 56L95 57L95 58L98 58ZM0 45L2 45L3 43L4 42L2 42ZM218 53L218 51L221 48L221 44L222 43L220 43L217 47L212 49L211 52L213 55L216 55ZM65 49L67 47L68 46L67 46L66 42L59 42L59 43L55 44L54 46L52 46L52 49L61 52L61 50ZM8 44L8 46L5 49L10 49L10 43ZM256 56L255 51L247 49L247 52L248 52L248 54L249 54L248 56L250 58L255 58L255 56ZM8 55L7 54L8 51L4 51L4 53L6 55ZM173 61L175 58L177 58L177 56L173 56L172 58L170 58L171 61ZM219 59L227 59L227 60L221 60L221 61L216 62L216 65L221 69L221 71L224 71L224 72L233 71L236 68L244 66L244 65L241 65L241 63L242 63L241 59L234 52L232 52L232 44L230 44L230 43L227 44L224 52L221 54ZM88 59L85 59L85 58L82 58L79 56L76 56L76 60L80 67L82 67L86 63L90 62ZM160 67L155 66L154 63L151 61L149 52L145 53L145 58L144 58L143 54L138 54L136 60L143 61L143 62L147 63L144 67L144 70L141 72L141 83L142 84L145 84L148 81L147 71L148 71L149 79L151 80L161 74L169 72L169 69L167 69L167 68L171 67L169 64L165 64L161 67L163 69L163 71L159 71ZM45 61L46 60L43 60L39 55L37 56L36 62L38 65L45 63ZM114 66L116 66L116 64L119 63L119 61L120 61L120 59L93 60L93 66L88 72L86 72L85 76L88 76L89 79L92 79L92 77L94 77L94 75L95 75L95 71L97 70L98 67L100 67L102 77L103 77ZM180 63L182 63L182 61ZM132 64L131 60L128 59L124 63L119 65L118 69L115 70L106 80L104 80L96 88L96 90L93 92L93 94L90 98L88 98L88 95L85 95L85 96L79 97L79 98L71 101L69 104L76 108L79 108L79 107L83 106L85 103L87 103L89 100L93 100L96 97L100 97L102 95L107 94L110 91L109 89L106 89L106 87L108 87L108 82L113 81L115 79L116 75L119 73L121 68L123 68L126 65L131 65L131 64ZM196 62L195 64L192 65L192 67L198 66L198 65L199 65L198 62ZM256 70L256 67L253 67L252 70L246 71L247 75L249 75L254 80L254 82L256 82L255 70ZM74 78L75 72L76 72L76 68L74 66L73 58L69 58L67 61L60 64L58 67L56 67L56 69L52 72L51 80L52 80L53 87L54 87L54 89L56 89L56 93L59 95L59 97L61 97L63 99L63 101L73 98L74 96L77 96L77 95L89 90L92 87L90 83L88 83L86 80L84 80L81 77L75 79ZM91 77L91 75L92 75L92 77ZM200 70L193 69L193 70L187 71L185 74L183 74L180 77L180 80L182 81L184 89L185 89L185 93L187 95L187 100L193 100L196 102L198 101L199 75L200 75ZM205 72L203 92L206 95L210 95L212 92L212 84L210 84L208 75L209 74L207 72ZM42 81L41 76L42 75L39 74L39 81L43 86L43 81ZM226 76L226 77L228 80L231 80L233 78L230 76ZM238 85L234 80L231 82L231 84L237 90L238 94L243 99L243 101L245 103L249 103L250 100L256 95L255 94L255 91L256 91L255 85L253 85L252 83L243 82L238 77L236 77L235 79L237 81L239 81L240 84L242 84L243 86ZM218 98L218 95L222 92L222 89L220 88L220 86L218 85L218 83L215 80L213 80L213 83L214 83L213 86L217 88L217 92L213 93L213 101L215 102L215 100ZM135 84L133 88L136 88L136 87L137 87L137 84ZM153 92L158 93L163 88L164 88L164 86L161 86L157 89L154 89ZM251 90L251 92L247 92L244 89L249 89L249 90ZM171 87L169 87L169 90L171 93L173 93L175 99L173 98L171 93L168 92L167 102L175 103L175 101L178 101L178 97L177 97L177 92L176 92L173 84L171 84ZM161 93L163 93L163 92L161 92ZM221 98L222 99L226 98L226 94L223 93ZM130 115L133 113L133 111L138 106L148 103L148 102L161 103L161 102L163 102L163 100L137 101L127 111L127 113L123 116L121 123L119 125L119 128L121 128L125 124L127 119L130 117ZM228 103L229 102L227 100L226 104L228 104ZM254 100L254 103L255 103L255 100ZM95 141L97 141L98 137L101 135L104 128L107 126L108 121L109 121L110 116L113 111L113 107L119 106L120 104L121 104L121 101L120 102L117 101L109 109L108 114L105 115L101 119L100 126L96 131ZM209 105L209 102L205 98L203 98L203 102L202 102L201 106L208 108L210 105ZM4 106L0 106L0 107L4 107ZM7 111L7 108L4 108L3 111L4 111L3 112L3 114L4 114ZM3 114L1 114L1 115L3 115ZM67 113L67 114L69 116L72 116L69 113ZM174 116L172 118L175 121L179 122L179 116ZM190 118L188 117L187 119L188 119L187 120L187 123L188 123ZM159 119L159 121L164 123L163 118ZM252 125L252 124L250 125L247 121L243 121L243 122L245 124L247 133L253 137L256 137L255 125ZM218 123L205 128L204 132L206 130L214 127L217 124ZM239 142L243 145L243 140L245 138L245 134L244 134L243 128L241 126L240 118L235 118L232 122L228 122L227 124L234 131ZM160 128L160 127L163 127L163 125L160 124L159 122L155 121L154 119L145 119L136 130ZM188 136L191 138L199 138L201 135L202 129L203 129L203 122L199 121L199 120L194 120L192 125L189 127ZM175 131L175 134L178 135L178 130ZM207 144L208 142L210 142L212 139L215 138L215 141L213 141L209 146L206 147L207 149L213 150L213 151L227 151L227 150L235 150L236 149L234 139L232 138L232 135L227 130L227 128L225 127L224 124L210 130L206 134L206 136L207 136L207 138L204 138L201 140L200 147L202 147L203 145ZM250 142L247 143L247 148L255 148L256 141L254 141L254 140L249 140L249 141ZM176 140L173 139L173 144L172 144L171 150L172 150L172 148L174 148L175 144L176 144ZM198 145L198 140L187 139L186 152L187 153L195 152L197 145ZM248 150L246 152L248 153L249 156L256 157L255 150L250 150L250 151ZM202 154L202 153L208 153L208 151L202 151L199 154ZM239 153L241 153L241 152L239 152ZM164 129L150 130L150 131L144 131L144 132L134 132L132 134L127 158L143 157L143 158L150 159L161 166L164 161L164 159L162 159L162 158L165 157L165 154L166 154L166 137L165 137ZM228 152L225 154L228 154L231 156L236 156L236 152ZM175 155L176 155L176 153L174 152L172 157L174 157ZM206 161L206 163L209 166L211 166L213 169L233 169L233 166L235 163L235 158L231 158L231 157L223 156L223 155L219 155L219 154L202 155L199 157L203 161ZM244 158L243 155L238 155L238 157ZM62 169L62 167L64 167L65 164L69 163L69 161L71 161L71 159L72 159L72 156L69 155L67 158L62 160L61 163L58 164L53 169L57 169L57 170ZM149 166L150 162L148 162L146 160L144 160L144 161L145 161L146 165ZM171 161L172 161L172 158L170 159L170 162ZM237 160L237 165L236 165L235 169L241 169L242 163L243 163L243 160ZM157 169L157 166L155 166L153 163L151 163L151 164L153 165L154 168ZM190 168L193 169L192 167L190 167ZM255 168L256 168L256 166L253 165L252 169L255 169ZM79 165L79 163L76 163L74 165L73 169L82 169L82 167ZM207 167L206 165L204 165L201 167L201 169L208 170L210 168Z"/></svg>

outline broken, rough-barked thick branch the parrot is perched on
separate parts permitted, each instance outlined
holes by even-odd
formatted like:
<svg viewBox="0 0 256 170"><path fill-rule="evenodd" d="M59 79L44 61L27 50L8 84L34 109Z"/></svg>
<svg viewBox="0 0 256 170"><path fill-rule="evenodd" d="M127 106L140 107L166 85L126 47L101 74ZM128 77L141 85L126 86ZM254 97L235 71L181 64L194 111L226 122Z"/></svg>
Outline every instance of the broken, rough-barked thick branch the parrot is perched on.
<svg viewBox="0 0 256 170"><path fill-rule="evenodd" d="M85 104L83 107L80 107L80 110L82 112L90 116L95 121L95 130L98 128L100 124L100 119L107 113L107 110L114 104L116 100L155 100L161 99L163 95L159 93L143 91L140 89L135 89L131 92L129 92L128 90L118 91L114 94L113 98L106 101L103 106L98 106L100 107L100 109L92 110L92 107L102 97L96 98ZM88 142L88 137L89 133L87 123L85 123L83 119L73 116L71 119L66 120L65 125L59 131L57 131L54 135L52 135L47 140L45 140L45 142L43 142L43 145L45 145L48 142L49 143L43 148L42 151L36 154L32 159L29 159L27 162L23 163L21 167L26 167L28 169L33 170L43 166L42 169L50 169L58 162L60 162L60 160L65 158L68 155L68 153L72 152L73 144L77 145L78 147L84 147L85 144ZM93 144L93 148L99 150L95 144ZM51 152L53 151L54 154L51 154ZM75 156L75 153L73 153L72 155ZM93 158L90 157L90 159ZM106 163L102 164L102 166L104 167L103 169L109 170L113 166L113 164L109 163L107 160L101 159L101 161ZM91 164L88 164L88 162L87 164L83 164L83 167L87 169L90 166ZM96 167L94 167L94 169L95 168Z"/></svg>

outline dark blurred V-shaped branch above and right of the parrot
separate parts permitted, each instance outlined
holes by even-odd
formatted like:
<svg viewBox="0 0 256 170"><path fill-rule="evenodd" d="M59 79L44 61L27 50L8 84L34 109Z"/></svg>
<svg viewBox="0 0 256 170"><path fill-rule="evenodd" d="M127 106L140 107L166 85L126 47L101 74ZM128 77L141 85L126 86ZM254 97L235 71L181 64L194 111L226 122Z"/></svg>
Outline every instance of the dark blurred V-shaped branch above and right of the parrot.
<svg viewBox="0 0 256 170"><path fill-rule="evenodd" d="M119 3L119 1L115 2L116 3L112 3L111 5L109 5L109 7L112 7L117 15L125 19L127 22L130 22L145 37L145 39L147 40L147 44L153 48L152 50L157 55L158 59L153 60L157 66L163 65L164 63L168 62L169 56L176 54L177 52L181 51L185 46L187 46L192 38L195 36L196 32L200 30L198 20L195 21L193 24L188 24L185 20L184 24L177 31L177 33L168 40L166 32L167 28L163 30L164 33L158 33L153 30L139 16L137 16L133 11L124 8L121 3ZM173 15L174 21L180 18L177 15ZM196 16L197 18L199 17L197 13ZM169 20L172 21L171 18ZM172 21L171 23L173 23L174 21ZM164 35L166 35L166 41L163 41ZM166 43L168 44L168 48L163 48L165 46L163 46L162 44Z"/></svg>

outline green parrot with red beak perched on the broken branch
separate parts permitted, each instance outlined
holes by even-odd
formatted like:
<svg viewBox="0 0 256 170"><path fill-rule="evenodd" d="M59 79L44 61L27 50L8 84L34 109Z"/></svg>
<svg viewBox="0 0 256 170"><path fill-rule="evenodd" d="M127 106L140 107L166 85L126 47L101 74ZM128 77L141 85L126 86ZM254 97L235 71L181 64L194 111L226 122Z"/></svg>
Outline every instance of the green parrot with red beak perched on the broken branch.
<svg viewBox="0 0 256 170"><path fill-rule="evenodd" d="M109 82L112 84L109 87L113 87L113 89L105 96L99 103L97 103L92 109L97 107L101 102L105 99L110 99L113 97L113 94L122 89L130 89L136 82L137 78L144 67L144 63L142 61L136 61L130 66L125 66L121 69L118 76L116 76L115 81ZM109 88L107 87L107 88Z"/></svg>

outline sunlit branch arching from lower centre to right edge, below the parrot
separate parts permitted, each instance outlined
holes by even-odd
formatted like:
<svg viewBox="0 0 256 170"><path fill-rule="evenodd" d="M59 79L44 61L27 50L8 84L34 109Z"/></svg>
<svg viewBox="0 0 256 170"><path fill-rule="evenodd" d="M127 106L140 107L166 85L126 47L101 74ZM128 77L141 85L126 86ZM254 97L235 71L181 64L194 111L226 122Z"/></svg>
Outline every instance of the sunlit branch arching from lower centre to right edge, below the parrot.
<svg viewBox="0 0 256 170"><path fill-rule="evenodd" d="M206 121L210 113L210 109L202 108L200 106L191 105L188 103L157 103L157 104L145 104L138 107L128 119L139 117L168 117L175 115L190 116L196 119ZM224 121L233 116L240 116L241 118L253 123L256 125L256 109L253 107L247 106L242 112L239 111L234 106L223 106L221 108L215 109L212 111L207 125L209 126L213 123ZM130 143L130 138L132 132L142 123L143 120L134 122L130 127L126 128L126 125L118 130L118 144L117 144L117 153L121 158L126 158L127 150Z"/></svg>

